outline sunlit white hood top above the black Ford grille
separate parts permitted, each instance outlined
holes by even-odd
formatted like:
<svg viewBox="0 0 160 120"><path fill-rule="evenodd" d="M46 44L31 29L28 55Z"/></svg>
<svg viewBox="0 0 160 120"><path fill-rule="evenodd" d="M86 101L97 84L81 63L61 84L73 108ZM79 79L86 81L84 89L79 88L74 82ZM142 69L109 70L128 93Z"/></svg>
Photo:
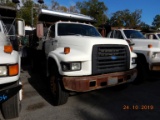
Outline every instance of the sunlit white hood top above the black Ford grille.
<svg viewBox="0 0 160 120"><path fill-rule="evenodd" d="M98 44L118 44L127 45L125 40L103 38L103 37L88 37L88 36L60 36L58 37L58 44L60 47L71 47L75 49L80 49L85 53L92 50L93 45ZM90 51L91 52L91 51Z"/></svg>

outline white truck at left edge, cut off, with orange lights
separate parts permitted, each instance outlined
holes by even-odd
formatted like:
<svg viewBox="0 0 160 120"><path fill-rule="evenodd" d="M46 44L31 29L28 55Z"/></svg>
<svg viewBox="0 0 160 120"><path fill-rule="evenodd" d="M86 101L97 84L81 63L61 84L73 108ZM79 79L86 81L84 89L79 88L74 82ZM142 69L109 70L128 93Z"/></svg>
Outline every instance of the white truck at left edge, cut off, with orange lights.
<svg viewBox="0 0 160 120"><path fill-rule="evenodd" d="M15 49L24 21L15 17L15 8L0 6L0 106L5 119L19 116L22 98L21 58Z"/></svg>

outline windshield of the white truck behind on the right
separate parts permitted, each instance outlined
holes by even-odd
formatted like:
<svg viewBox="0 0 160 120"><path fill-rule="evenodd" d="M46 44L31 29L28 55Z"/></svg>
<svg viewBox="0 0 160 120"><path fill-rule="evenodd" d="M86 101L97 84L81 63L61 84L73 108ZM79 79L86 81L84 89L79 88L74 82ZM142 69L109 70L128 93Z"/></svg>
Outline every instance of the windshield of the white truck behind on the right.
<svg viewBox="0 0 160 120"><path fill-rule="evenodd" d="M138 39L146 39L144 35L137 30L124 30L124 34L129 38L138 38Z"/></svg>

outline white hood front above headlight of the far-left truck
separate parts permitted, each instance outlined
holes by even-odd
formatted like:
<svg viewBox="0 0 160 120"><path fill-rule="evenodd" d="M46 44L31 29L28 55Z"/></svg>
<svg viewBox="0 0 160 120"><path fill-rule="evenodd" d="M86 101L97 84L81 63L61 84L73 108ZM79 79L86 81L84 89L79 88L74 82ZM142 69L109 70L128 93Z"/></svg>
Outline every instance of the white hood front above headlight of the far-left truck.
<svg viewBox="0 0 160 120"><path fill-rule="evenodd" d="M0 46L0 64L14 64L17 63L17 60L18 60L18 52L13 50L11 54L5 53L4 47Z"/></svg>

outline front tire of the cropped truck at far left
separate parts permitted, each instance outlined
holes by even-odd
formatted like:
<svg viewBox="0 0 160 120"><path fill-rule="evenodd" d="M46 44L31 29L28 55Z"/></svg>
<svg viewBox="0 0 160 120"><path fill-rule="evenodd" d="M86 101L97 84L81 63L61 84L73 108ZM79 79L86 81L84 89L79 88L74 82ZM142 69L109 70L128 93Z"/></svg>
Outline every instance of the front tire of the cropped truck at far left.
<svg viewBox="0 0 160 120"><path fill-rule="evenodd" d="M20 114L20 96L19 92L1 104L2 114L5 119L19 117Z"/></svg>

